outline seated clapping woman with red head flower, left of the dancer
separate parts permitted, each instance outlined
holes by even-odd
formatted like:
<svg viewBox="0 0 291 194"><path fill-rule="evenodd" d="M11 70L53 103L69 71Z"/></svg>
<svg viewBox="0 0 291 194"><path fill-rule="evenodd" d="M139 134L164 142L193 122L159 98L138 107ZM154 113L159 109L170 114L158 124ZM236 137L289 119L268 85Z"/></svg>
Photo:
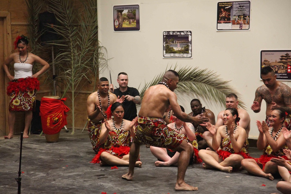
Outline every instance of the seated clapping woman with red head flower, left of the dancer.
<svg viewBox="0 0 291 194"><path fill-rule="evenodd" d="M123 119L124 109L119 102L113 103L107 110L107 118L102 124L100 131L100 148L96 156L92 159L92 163L100 163L100 165L116 165L129 166L129 145L130 134L134 134L135 118L132 122ZM141 167L141 161L136 161L136 166Z"/></svg>

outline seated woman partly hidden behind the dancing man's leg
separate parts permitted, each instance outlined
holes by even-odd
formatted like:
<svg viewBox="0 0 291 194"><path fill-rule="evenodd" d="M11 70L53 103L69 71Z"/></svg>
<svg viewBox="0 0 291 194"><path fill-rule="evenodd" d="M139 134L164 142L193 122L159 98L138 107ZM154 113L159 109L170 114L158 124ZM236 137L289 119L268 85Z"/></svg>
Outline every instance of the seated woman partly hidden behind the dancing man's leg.
<svg viewBox="0 0 291 194"><path fill-rule="evenodd" d="M181 110L185 112L184 108L180 106ZM174 122L168 124L168 127L174 129L177 133L181 135L183 139L187 141L189 145L191 145L192 156L190 157L190 163L199 162L200 159L198 156L198 144L195 136L195 129L191 123L183 122L179 120L175 114L173 113L171 120ZM179 152L173 152L170 149L154 147L150 146L150 151L152 154L159 160L155 162L155 166L177 166L178 165L178 157L180 155ZM195 154L196 153L196 154Z"/></svg>

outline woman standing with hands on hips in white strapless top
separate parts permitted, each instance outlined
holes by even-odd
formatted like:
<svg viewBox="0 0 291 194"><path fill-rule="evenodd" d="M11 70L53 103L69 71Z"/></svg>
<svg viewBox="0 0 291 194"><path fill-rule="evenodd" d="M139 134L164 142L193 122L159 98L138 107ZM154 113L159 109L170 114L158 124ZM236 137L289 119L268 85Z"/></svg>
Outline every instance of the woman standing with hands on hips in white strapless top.
<svg viewBox="0 0 291 194"><path fill-rule="evenodd" d="M36 90L39 90L37 77L49 68L49 64L45 60L28 52L28 43L29 40L26 36L18 36L14 42L14 49L17 48L18 52L11 54L3 63L4 71L10 79L7 87L7 95L10 96L8 113L9 134L4 136L5 139L13 138L16 111L25 111L23 138L28 138ZM14 76L8 70L8 65L11 62L14 62ZM43 67L36 74L32 74L32 66L35 62Z"/></svg>

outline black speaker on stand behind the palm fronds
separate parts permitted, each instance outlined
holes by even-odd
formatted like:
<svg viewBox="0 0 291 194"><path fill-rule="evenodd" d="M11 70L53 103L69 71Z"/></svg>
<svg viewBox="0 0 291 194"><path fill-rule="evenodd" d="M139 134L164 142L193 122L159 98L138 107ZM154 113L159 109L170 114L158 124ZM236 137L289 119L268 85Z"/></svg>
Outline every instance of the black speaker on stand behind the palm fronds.
<svg viewBox="0 0 291 194"><path fill-rule="evenodd" d="M39 14L39 28L38 30L43 32L40 36L42 42L58 40L58 35L54 33L54 29L47 27L47 25L55 25L56 17L54 13L43 12Z"/></svg>

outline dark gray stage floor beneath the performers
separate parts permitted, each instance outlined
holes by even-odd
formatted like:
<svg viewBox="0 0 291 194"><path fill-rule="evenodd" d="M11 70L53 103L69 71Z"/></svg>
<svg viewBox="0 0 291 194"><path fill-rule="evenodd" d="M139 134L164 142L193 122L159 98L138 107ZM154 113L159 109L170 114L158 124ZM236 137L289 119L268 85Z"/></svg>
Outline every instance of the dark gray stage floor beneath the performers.
<svg viewBox="0 0 291 194"><path fill-rule="evenodd" d="M134 181L121 179L128 167L112 169L89 163L94 156L86 131L75 135L61 131L58 143L46 143L45 136L31 135L23 141L22 193L274 193L277 177L270 181L249 175L245 170L231 174L204 170L202 164L188 167L185 181L198 191L175 191L176 167L155 167L155 157L141 147L142 168L135 168ZM0 193L17 193L20 138L0 138ZM260 155L250 148L254 157ZM261 186L265 184L266 186ZM279 192L278 192L279 193Z"/></svg>

